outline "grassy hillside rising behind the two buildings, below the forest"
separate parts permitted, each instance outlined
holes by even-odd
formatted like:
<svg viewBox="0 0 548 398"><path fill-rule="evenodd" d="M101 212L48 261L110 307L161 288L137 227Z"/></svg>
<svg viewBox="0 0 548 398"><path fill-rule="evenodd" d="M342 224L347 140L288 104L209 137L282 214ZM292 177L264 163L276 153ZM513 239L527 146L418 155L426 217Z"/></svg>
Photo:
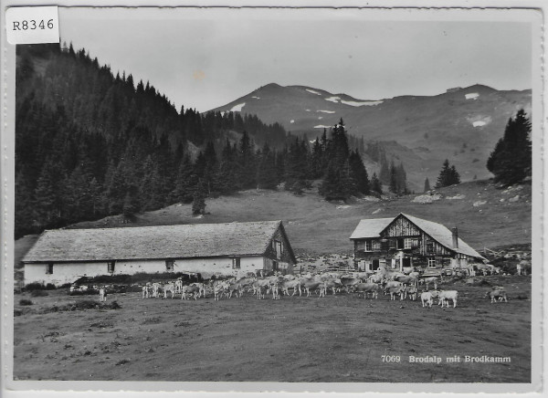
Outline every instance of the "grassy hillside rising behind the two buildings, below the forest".
<svg viewBox="0 0 548 398"><path fill-rule="evenodd" d="M420 195L382 201L368 197L355 199L352 204L334 204L313 191L296 196L284 191L251 190L208 199L209 214L201 218L192 215L190 204L174 204L138 215L132 223L121 224L121 218L109 217L73 227L281 219L297 252L351 253L349 236L360 219L406 213L448 227L458 226L459 236L477 249L531 242L531 184L501 190L488 181L476 181L437 190L432 197L436 194L441 199L431 204L414 202Z"/></svg>

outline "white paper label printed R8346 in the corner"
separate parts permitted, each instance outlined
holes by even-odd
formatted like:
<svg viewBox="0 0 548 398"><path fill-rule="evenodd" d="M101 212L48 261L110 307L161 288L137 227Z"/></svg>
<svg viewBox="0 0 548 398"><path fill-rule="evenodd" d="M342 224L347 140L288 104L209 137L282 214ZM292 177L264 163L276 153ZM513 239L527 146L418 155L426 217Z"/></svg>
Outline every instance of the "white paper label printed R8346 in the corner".
<svg viewBox="0 0 548 398"><path fill-rule="evenodd" d="M58 7L11 7L5 11L10 44L58 43Z"/></svg>

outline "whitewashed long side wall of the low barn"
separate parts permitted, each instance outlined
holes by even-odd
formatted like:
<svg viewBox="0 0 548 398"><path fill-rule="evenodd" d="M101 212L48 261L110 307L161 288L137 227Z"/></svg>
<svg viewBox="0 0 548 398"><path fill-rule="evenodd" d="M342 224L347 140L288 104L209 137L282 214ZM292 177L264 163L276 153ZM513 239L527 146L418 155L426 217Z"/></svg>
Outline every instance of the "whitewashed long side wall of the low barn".
<svg viewBox="0 0 548 398"><path fill-rule="evenodd" d="M232 268L231 257L192 258L175 260L174 272L195 272L209 277L213 273L224 275L245 275L250 271L264 267L264 257L240 257L240 268ZM25 284L52 283L56 286L72 283L79 277L97 277L109 275L107 262L61 263L53 266L53 274L46 274L47 264L26 264ZM114 275L132 275L139 272L166 272L164 260L120 260L114 267Z"/></svg>

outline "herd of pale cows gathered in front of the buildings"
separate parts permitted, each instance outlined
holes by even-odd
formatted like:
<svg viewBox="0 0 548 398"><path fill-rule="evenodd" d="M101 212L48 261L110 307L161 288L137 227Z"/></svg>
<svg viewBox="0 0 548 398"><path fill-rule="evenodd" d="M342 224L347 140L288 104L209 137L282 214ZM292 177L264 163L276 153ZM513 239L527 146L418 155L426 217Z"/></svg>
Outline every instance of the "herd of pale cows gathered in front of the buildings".
<svg viewBox="0 0 548 398"><path fill-rule="evenodd" d="M375 273L367 272L325 272L321 274L295 275L272 275L269 277L258 277L253 273L244 278L226 278L210 280L207 283L191 283L184 285L183 279L177 279L167 283L147 283L142 286L142 299L160 298L174 299L175 295L181 295L181 299L199 299L213 295L215 300L223 297L231 299L233 296L241 298L245 293L257 296L257 299L265 299L267 294L272 299L280 299L281 295L299 296L316 293L318 297L325 297L329 291L333 295L342 291L355 294L358 297L378 299L379 292L389 296L391 300L411 299L420 297L423 307L431 308L434 299L437 304L457 307L457 290L438 290L437 284L442 282L441 278L421 278L418 272L408 274L389 270L380 267ZM419 292L419 286L424 285L423 291ZM434 290L430 290L433 286ZM426 290L425 290L426 288ZM505 300L508 301L504 288L494 287L486 293L491 303Z"/></svg>

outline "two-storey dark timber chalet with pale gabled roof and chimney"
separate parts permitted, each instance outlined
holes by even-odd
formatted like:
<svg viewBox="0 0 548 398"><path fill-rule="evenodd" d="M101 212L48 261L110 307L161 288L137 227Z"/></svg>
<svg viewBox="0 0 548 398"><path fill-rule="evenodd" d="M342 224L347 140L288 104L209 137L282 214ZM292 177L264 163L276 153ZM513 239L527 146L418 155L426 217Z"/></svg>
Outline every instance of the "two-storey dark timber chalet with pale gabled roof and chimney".
<svg viewBox="0 0 548 398"><path fill-rule="evenodd" d="M350 239L354 244L354 266L374 271L380 266L467 267L486 262L458 237L457 228L423 220L412 215L361 220Z"/></svg>

